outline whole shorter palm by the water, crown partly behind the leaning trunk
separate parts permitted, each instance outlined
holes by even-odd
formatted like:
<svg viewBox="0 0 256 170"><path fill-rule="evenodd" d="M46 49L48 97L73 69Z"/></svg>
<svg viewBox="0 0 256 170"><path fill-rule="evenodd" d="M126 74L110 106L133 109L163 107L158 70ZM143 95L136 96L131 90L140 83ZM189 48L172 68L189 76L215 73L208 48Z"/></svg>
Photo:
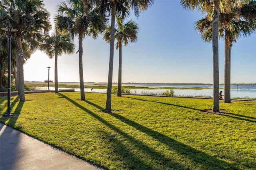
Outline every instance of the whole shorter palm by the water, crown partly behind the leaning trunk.
<svg viewBox="0 0 256 170"><path fill-rule="evenodd" d="M138 24L134 21L129 20L124 24L122 18L116 16L116 24L117 28L115 29L114 38L117 40L116 49L119 49L119 67L118 67L118 90L117 96L122 96L122 42L124 42L124 46L128 45L128 42L136 42L137 34L139 30ZM110 43L110 31L111 26L108 26L105 34L104 40Z"/></svg>

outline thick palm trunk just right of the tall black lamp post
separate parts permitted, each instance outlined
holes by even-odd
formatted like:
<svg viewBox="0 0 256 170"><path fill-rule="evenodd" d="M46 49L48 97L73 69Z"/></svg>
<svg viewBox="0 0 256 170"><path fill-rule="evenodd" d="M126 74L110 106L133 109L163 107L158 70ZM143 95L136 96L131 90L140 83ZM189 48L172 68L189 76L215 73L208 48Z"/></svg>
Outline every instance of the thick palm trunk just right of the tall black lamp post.
<svg viewBox="0 0 256 170"><path fill-rule="evenodd" d="M20 102L25 101L25 91L24 91L24 73L23 73L23 52L22 52L22 43L21 43L21 37L17 36L17 42L18 42L18 91L20 96Z"/></svg>

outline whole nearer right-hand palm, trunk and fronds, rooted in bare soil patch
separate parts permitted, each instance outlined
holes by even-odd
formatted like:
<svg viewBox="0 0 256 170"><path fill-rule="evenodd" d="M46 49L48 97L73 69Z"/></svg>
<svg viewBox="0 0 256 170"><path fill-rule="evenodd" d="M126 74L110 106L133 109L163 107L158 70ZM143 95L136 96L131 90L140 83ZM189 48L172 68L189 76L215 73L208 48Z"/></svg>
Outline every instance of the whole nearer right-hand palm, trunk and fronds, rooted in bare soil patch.
<svg viewBox="0 0 256 170"><path fill-rule="evenodd" d="M184 8L201 10L210 13L209 20L212 25L212 53L213 53L213 106L212 111L220 111L219 103L219 52L218 52L218 25L220 16L220 0L181 0Z"/></svg>

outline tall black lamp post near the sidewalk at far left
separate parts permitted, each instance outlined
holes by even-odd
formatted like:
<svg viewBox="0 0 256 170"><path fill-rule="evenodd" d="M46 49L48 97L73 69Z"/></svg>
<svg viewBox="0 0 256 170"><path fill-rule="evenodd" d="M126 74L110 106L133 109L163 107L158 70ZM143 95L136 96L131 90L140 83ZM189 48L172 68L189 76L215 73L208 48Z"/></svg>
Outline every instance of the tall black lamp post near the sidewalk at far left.
<svg viewBox="0 0 256 170"><path fill-rule="evenodd" d="M12 27L8 26L6 28L2 28L2 30L8 32L8 95L7 95L7 113L4 116L13 116L10 114L11 107L10 107L10 99L11 99L11 60L12 60L12 32L16 32L18 30L13 29Z"/></svg>

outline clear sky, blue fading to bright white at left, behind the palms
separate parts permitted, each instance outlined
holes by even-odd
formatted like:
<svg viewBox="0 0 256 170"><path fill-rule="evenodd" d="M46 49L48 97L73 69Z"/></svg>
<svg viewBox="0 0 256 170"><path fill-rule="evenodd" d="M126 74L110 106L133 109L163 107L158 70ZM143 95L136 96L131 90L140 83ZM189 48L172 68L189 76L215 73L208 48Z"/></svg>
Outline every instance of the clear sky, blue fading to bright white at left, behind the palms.
<svg viewBox="0 0 256 170"><path fill-rule="evenodd" d="M45 0L53 22L60 0ZM212 44L194 30L202 15L187 11L179 0L156 0L147 11L128 19L139 26L138 41L122 48L122 83L213 83ZM75 39L76 51L78 39ZM75 52L76 52L75 51ZM83 40L84 82L107 82L110 45L102 35ZM24 65L24 80L54 80L54 59L36 51ZM219 41L219 75L224 83L224 42ZM58 81L79 82L78 53L58 57ZM114 51L113 82L118 81ZM240 38L231 49L231 83L256 83L256 35Z"/></svg>

